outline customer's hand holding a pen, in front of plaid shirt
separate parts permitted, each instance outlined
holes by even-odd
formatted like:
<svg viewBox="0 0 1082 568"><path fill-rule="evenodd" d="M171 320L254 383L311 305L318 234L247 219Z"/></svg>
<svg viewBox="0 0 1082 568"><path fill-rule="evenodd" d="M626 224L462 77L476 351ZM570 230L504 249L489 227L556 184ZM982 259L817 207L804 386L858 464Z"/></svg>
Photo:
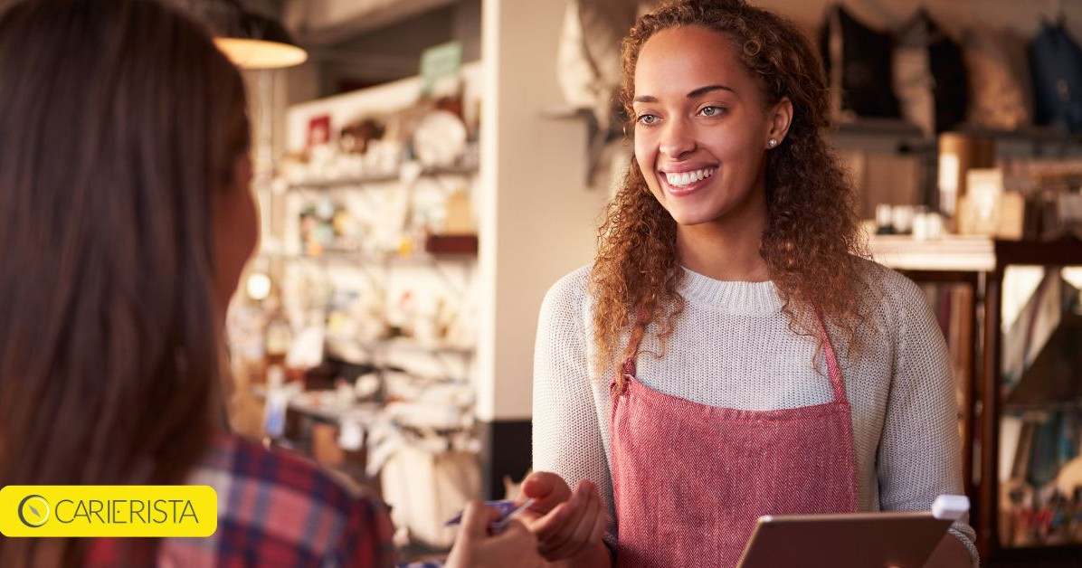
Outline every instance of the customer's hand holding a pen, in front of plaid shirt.
<svg viewBox="0 0 1082 568"><path fill-rule="evenodd" d="M537 538L520 520L513 518L502 532L489 534L489 523L498 518L500 512L494 508L476 501L467 504L446 568L544 566Z"/></svg>

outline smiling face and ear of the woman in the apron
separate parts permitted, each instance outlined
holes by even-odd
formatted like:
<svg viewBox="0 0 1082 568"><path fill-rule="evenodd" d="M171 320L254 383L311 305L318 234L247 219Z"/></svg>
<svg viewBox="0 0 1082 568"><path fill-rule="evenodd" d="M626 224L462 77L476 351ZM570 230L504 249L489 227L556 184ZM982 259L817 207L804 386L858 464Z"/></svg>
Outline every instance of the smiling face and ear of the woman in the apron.
<svg viewBox="0 0 1082 568"><path fill-rule="evenodd" d="M767 108L736 50L725 36L688 26L655 34L639 52L635 159L678 225L749 216L765 224L765 151L771 137L781 142L791 107L782 100Z"/></svg>

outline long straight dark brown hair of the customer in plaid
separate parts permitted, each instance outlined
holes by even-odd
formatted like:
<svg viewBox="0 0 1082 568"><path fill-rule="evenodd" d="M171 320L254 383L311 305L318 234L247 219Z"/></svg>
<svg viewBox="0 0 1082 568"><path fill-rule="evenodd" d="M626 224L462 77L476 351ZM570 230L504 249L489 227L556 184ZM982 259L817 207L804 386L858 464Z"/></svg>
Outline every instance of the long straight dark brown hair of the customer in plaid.
<svg viewBox="0 0 1082 568"><path fill-rule="evenodd" d="M151 0L0 16L0 486L175 484L219 400L213 193L249 146L243 82ZM0 539L0 565L82 543Z"/></svg>

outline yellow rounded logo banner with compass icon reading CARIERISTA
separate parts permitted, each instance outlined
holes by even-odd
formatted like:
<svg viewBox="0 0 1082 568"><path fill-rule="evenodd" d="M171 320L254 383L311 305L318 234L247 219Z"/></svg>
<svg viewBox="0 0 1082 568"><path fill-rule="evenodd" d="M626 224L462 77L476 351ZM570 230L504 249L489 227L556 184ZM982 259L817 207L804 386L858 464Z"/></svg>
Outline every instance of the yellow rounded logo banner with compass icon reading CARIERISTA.
<svg viewBox="0 0 1082 568"><path fill-rule="evenodd" d="M9 485L4 537L210 537L217 493L204 485Z"/></svg>

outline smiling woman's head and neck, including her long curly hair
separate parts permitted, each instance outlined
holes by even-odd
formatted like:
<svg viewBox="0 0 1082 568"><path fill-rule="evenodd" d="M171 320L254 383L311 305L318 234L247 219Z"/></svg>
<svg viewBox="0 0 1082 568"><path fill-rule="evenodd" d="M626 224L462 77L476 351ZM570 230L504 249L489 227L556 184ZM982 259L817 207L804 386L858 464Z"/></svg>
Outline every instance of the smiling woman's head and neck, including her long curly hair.
<svg viewBox="0 0 1082 568"><path fill-rule="evenodd" d="M850 299L863 248L852 189L821 136L827 83L815 51L769 12L700 4L643 18L624 43L620 95L637 167L609 206L591 278L598 362L610 362L632 309L647 314L634 329L657 322L668 336L682 309L682 255L708 276L773 280L800 332L815 331L816 290L816 307L859 348ZM720 175L690 187L668 181L697 169ZM696 190L708 185L718 189ZM644 246L657 254L633 253Z"/></svg>

